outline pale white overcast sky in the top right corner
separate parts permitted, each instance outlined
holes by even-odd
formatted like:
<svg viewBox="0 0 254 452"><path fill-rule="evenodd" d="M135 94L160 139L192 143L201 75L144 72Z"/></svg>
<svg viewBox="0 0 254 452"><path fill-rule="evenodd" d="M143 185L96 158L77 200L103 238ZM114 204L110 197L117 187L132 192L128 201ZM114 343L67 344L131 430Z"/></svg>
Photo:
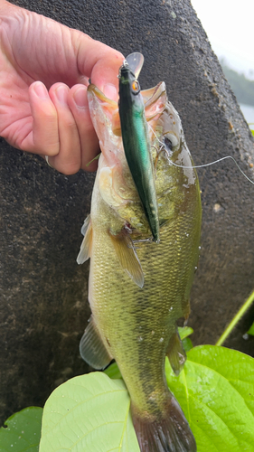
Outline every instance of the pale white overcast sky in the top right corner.
<svg viewBox="0 0 254 452"><path fill-rule="evenodd" d="M191 0L212 50L254 80L254 0Z"/></svg>

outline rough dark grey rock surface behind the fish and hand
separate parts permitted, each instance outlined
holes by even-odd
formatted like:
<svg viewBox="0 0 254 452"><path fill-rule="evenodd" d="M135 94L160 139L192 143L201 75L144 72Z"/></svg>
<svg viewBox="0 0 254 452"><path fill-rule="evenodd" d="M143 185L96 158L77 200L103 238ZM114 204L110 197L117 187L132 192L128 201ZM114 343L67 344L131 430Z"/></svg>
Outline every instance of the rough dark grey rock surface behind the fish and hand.
<svg viewBox="0 0 254 452"><path fill-rule="evenodd" d="M19 0L17 5L145 55L143 89L165 80L196 165L232 155L253 178L249 127L188 0ZM76 265L94 175L58 174L0 139L0 416L41 405L87 372L78 345L89 317L89 265ZM214 344L253 289L254 187L225 161L199 171L202 250L192 292L194 344ZM251 316L251 315L252 316ZM244 341L252 313L227 345Z"/></svg>

